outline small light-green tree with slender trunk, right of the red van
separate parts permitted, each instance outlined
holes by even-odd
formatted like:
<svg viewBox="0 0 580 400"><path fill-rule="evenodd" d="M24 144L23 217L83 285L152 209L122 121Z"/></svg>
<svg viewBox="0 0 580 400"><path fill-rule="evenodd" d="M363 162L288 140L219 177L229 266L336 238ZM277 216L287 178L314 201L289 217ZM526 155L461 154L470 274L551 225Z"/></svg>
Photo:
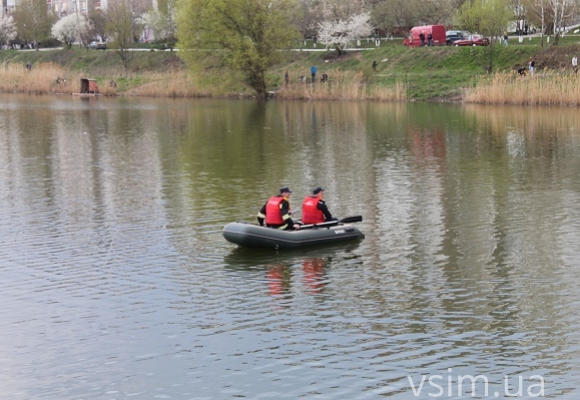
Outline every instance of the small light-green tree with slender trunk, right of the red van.
<svg viewBox="0 0 580 400"><path fill-rule="evenodd" d="M503 35L508 22L514 19L514 10L507 0L466 1L457 10L458 25L472 32L489 36L487 71L493 68L493 48L496 38Z"/></svg>

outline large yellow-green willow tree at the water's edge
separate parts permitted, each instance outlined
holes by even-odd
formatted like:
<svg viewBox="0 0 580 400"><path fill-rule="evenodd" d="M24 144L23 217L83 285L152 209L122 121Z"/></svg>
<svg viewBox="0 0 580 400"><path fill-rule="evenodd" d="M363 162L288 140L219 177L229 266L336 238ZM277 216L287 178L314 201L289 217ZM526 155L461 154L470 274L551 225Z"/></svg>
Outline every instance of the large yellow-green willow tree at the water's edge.
<svg viewBox="0 0 580 400"><path fill-rule="evenodd" d="M293 0L180 0L178 46L192 71L239 73L266 97L268 69L300 38Z"/></svg>

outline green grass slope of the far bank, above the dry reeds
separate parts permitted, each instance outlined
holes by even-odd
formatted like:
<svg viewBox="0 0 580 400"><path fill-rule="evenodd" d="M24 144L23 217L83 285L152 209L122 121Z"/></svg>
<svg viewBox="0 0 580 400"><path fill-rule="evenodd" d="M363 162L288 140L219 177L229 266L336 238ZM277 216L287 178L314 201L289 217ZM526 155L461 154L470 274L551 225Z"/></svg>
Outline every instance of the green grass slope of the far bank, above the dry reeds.
<svg viewBox="0 0 580 400"><path fill-rule="evenodd" d="M510 45L493 46L493 71L510 71L526 65L530 56L536 60L536 68L570 68L570 59L580 50L578 36L569 36L559 46L551 46L540 38L519 43L510 39ZM363 42L364 45L366 43ZM364 46L363 46L364 47ZM460 99L462 91L486 75L489 65L490 48L483 47L423 47L406 48L400 40L383 42L381 47L359 51L348 51L337 56L335 51L292 52L287 63L272 68L269 80L272 89L283 85L284 71L290 72L294 82L300 75L310 76L310 67L318 67L318 77L328 74L332 80L338 71L357 73L361 82L394 86L403 83L411 100L453 100ZM98 78L115 75L121 81L119 92L132 90L140 84L139 75L183 71L185 64L178 52L135 51L132 53L130 71L123 71L119 56L114 50L96 51L75 48L72 50L48 51L0 51L0 62L55 63L73 71L83 71ZM372 62L377 61L377 71L372 71ZM132 77L122 76L128 73ZM105 78L103 78L105 79ZM357 78L359 79L359 78ZM144 82L147 80L145 79ZM236 87L233 92L239 93ZM247 89L250 94L251 90ZM212 93L208 93L212 95ZM217 94L213 94L217 95Z"/></svg>

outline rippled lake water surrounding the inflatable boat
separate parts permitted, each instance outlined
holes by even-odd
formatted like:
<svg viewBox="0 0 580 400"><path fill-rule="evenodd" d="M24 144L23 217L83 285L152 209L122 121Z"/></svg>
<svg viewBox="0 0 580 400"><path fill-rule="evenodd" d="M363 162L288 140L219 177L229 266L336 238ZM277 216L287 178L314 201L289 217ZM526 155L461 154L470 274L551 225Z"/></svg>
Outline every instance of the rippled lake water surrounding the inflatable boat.
<svg viewBox="0 0 580 400"><path fill-rule="evenodd" d="M0 397L578 398L579 155L576 109L1 96ZM366 238L225 242L284 185Z"/></svg>

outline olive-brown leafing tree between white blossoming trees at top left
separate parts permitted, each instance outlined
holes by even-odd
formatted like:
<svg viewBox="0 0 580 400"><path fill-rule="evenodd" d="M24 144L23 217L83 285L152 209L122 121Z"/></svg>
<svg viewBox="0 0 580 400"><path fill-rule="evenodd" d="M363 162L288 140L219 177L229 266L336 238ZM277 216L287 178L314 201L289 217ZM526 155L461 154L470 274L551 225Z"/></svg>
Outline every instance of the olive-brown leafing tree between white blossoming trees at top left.
<svg viewBox="0 0 580 400"><path fill-rule="evenodd" d="M58 17L46 6L46 0L18 3L14 12L18 39L23 43L34 44L38 50L40 42L50 37L50 28L57 19Z"/></svg>

